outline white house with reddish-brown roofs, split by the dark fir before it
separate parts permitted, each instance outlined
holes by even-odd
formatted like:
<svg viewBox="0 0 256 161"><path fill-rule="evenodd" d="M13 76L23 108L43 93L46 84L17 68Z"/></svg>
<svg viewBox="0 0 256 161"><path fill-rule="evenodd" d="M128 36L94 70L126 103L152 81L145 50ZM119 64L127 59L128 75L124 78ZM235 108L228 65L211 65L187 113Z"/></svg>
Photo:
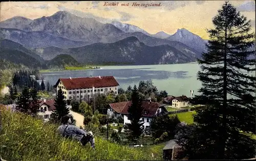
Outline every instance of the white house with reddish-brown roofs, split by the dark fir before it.
<svg viewBox="0 0 256 161"><path fill-rule="evenodd" d="M108 114L110 116L117 116L118 114L121 114L123 116L123 124L131 123L128 116L128 108L131 104L132 101L111 103L109 104ZM143 129L149 128L152 119L159 116L161 112L167 112L164 105L161 105L158 102L152 102L151 99L148 101L142 101L142 107L144 107L143 117L141 118L144 122L142 125Z"/></svg>

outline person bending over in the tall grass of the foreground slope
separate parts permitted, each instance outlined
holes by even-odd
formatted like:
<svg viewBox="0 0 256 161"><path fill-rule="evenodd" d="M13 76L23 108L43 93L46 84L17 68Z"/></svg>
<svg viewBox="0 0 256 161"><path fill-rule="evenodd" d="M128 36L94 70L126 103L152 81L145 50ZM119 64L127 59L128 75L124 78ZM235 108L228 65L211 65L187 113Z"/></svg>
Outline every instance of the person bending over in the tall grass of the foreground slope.
<svg viewBox="0 0 256 161"><path fill-rule="evenodd" d="M61 118L61 123L62 125L58 127L58 131L63 137L71 137L83 146L90 142L91 147L95 149L95 139L92 131L87 132L75 125L70 125L71 121L68 114Z"/></svg>

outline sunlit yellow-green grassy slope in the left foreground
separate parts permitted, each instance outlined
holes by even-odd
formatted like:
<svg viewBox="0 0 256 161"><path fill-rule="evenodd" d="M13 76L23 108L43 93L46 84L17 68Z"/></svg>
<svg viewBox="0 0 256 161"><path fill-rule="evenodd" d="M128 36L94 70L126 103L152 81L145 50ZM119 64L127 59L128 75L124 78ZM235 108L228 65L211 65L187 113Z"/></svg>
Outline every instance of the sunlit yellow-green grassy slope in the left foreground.
<svg viewBox="0 0 256 161"><path fill-rule="evenodd" d="M1 105L0 105L1 106ZM96 149L62 138L57 126L1 108L1 156L7 160L152 160L151 153L95 136Z"/></svg>

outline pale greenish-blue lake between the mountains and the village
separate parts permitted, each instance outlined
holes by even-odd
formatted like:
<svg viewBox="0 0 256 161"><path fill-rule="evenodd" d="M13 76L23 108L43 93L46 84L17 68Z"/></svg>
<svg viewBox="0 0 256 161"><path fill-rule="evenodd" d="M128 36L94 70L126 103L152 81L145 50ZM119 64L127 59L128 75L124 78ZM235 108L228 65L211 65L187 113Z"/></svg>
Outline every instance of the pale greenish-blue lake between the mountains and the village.
<svg viewBox="0 0 256 161"><path fill-rule="evenodd" d="M54 85L58 78L114 76L119 87L126 90L131 85L138 86L139 81L152 80L158 90L166 90L168 95L190 97L190 90L197 90L201 82L197 80L200 66L197 63L161 64L161 65L127 65L127 66L102 66L99 70L57 71L41 72L45 81Z"/></svg>

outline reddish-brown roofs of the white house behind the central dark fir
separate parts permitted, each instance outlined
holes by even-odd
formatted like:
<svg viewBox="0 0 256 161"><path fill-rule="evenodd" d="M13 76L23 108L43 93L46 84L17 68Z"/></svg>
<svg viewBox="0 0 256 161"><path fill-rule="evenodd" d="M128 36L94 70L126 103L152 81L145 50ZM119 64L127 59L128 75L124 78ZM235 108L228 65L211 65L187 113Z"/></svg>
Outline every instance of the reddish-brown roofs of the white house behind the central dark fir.
<svg viewBox="0 0 256 161"><path fill-rule="evenodd" d="M128 114L128 108L132 105L132 101L111 103L109 105L118 113ZM144 111L147 111L146 114L143 112L143 117L154 117L160 106L158 102L142 101L142 107L144 107Z"/></svg>

